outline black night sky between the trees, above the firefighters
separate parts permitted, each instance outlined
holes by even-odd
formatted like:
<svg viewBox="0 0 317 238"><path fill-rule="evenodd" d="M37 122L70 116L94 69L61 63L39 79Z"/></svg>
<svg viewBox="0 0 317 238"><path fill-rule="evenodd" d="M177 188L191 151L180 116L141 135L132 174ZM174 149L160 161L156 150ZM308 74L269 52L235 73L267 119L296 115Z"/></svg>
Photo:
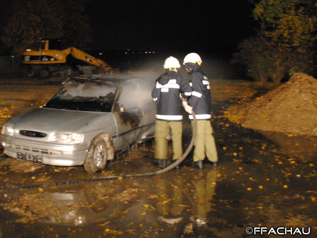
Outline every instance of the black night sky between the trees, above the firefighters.
<svg viewBox="0 0 317 238"><path fill-rule="evenodd" d="M230 53L255 29L247 0L91 0L87 14L100 50Z"/></svg>

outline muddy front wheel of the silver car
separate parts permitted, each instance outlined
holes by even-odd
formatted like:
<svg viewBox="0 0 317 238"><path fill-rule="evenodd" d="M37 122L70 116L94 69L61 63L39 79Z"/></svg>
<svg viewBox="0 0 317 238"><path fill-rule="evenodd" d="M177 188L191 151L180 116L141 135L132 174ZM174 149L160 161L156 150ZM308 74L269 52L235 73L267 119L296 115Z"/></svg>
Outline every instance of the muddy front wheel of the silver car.
<svg viewBox="0 0 317 238"><path fill-rule="evenodd" d="M99 135L91 142L84 162L84 169L96 173L105 169L107 160L113 159L113 147L107 135Z"/></svg>

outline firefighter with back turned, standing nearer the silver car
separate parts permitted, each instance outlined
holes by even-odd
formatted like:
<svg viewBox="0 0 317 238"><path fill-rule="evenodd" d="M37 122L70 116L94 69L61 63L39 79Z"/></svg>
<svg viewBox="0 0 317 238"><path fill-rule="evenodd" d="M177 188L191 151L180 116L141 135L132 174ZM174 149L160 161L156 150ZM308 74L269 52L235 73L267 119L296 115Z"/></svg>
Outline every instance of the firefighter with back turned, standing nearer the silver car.
<svg viewBox="0 0 317 238"><path fill-rule="evenodd" d="M155 81L152 98L157 101L155 122L155 155L154 166L165 168L168 166L167 145L171 136L173 146L173 160L183 155L182 130L183 114L180 95L187 98L191 95L191 86L179 75L178 59L170 56L165 60L166 72Z"/></svg>

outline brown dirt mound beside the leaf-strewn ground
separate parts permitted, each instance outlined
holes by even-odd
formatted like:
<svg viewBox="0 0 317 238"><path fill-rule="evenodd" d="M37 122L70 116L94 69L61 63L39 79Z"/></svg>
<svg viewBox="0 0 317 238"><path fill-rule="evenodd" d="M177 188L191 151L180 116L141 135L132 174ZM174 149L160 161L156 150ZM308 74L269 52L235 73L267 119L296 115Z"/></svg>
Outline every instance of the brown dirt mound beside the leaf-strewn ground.
<svg viewBox="0 0 317 238"><path fill-rule="evenodd" d="M317 80L296 73L287 83L225 114L247 128L317 136Z"/></svg>

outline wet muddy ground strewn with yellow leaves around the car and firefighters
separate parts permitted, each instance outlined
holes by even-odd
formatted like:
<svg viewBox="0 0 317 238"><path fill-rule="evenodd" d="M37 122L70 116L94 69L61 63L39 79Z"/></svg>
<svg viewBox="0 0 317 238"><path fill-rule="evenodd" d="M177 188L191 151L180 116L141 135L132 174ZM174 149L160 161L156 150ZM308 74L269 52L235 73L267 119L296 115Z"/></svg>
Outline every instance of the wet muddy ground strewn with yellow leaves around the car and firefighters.
<svg viewBox="0 0 317 238"><path fill-rule="evenodd" d="M53 92L56 85L48 81L43 87L53 87ZM40 88L37 91L42 95ZM43 97L28 100L36 105ZM26 101L23 108L20 104L11 108L9 98L2 101L6 103L2 108L8 108L3 116L32 106ZM18 189L155 171L153 143L119 154L103 173L94 175L81 166L17 161L0 149L0 238L301 237L308 232L306 236L316 237L316 138L259 132L231 123L223 112L234 103L237 99L230 98L230 90L213 102L219 163L205 163L202 170L187 166L188 156L180 169L157 176ZM185 120L184 149L190 139ZM267 231L246 233L255 227ZM286 235L278 235L285 233L284 227Z"/></svg>

